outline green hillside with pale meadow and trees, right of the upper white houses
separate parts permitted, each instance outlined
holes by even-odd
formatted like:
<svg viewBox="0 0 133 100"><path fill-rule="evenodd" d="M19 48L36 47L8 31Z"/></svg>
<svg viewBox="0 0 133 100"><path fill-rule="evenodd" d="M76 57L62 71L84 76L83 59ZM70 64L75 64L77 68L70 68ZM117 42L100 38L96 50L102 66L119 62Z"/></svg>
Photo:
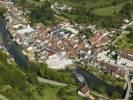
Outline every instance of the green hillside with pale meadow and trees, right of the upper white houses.
<svg viewBox="0 0 133 100"><path fill-rule="evenodd" d="M82 2L57 0L57 2L72 8L71 12L61 12L61 16L78 23L96 24L106 28L119 28L123 19L130 19L133 12L132 0L82 0Z"/></svg>

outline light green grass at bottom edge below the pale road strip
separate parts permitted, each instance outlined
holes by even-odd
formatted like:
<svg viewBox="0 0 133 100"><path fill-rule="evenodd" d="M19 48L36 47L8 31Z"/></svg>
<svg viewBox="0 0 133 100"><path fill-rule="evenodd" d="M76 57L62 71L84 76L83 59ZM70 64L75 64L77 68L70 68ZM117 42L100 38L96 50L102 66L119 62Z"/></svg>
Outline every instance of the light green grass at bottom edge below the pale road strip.
<svg viewBox="0 0 133 100"><path fill-rule="evenodd" d="M73 93L73 90L76 90L78 87L76 86L70 86L70 87L61 87L61 86L51 86L51 85L45 85L43 87L42 93L43 96L38 96L38 94L34 94L37 100L62 100L64 97L65 100L84 100L82 97ZM65 89L65 91L62 91L61 89ZM59 92L63 94L59 94Z"/></svg>

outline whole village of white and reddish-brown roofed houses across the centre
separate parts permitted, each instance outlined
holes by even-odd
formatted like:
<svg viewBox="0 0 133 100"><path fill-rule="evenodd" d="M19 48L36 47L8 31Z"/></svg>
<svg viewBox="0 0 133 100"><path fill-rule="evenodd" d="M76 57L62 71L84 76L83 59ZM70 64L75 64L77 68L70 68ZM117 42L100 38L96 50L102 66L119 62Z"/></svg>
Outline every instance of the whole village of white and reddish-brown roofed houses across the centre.
<svg viewBox="0 0 133 100"><path fill-rule="evenodd" d="M90 25L87 28L93 32L93 36L88 38L80 33L80 30L86 27L77 23L71 24L66 21L50 27L41 23L31 26L24 16L25 12L20 8L12 3L6 4L6 7L8 9L4 15L7 20L6 27L13 40L22 47L28 60L47 63L49 68L56 70L69 69L74 62L80 62L82 66L93 65L99 71L124 79L128 86L127 92L132 91L133 50L111 50L108 47L115 41L111 39L115 32L124 33L126 27L133 25L133 20L126 20L121 30L108 31ZM85 95L86 92L80 94Z"/></svg>

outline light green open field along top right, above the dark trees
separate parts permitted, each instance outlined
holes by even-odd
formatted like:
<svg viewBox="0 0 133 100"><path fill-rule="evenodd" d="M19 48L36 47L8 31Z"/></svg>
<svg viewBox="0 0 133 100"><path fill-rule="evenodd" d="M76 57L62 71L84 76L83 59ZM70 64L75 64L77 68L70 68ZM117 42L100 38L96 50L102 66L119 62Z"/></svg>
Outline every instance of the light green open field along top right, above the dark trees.
<svg viewBox="0 0 133 100"><path fill-rule="evenodd" d="M119 0L118 2L114 2L113 0L82 0L78 2L74 2L73 0L57 0L60 3L67 4L72 7L78 7L84 5L86 9L92 9L96 15L99 16L113 16L114 13L118 13L124 4L130 2L133 3L132 0ZM113 4L113 2L115 4Z"/></svg>

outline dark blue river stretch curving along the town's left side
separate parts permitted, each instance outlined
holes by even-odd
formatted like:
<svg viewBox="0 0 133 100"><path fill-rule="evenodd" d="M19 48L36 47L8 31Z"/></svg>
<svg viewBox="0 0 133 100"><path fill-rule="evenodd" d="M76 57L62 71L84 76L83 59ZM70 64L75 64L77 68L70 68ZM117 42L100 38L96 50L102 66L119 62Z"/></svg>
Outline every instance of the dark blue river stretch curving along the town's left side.
<svg viewBox="0 0 133 100"><path fill-rule="evenodd" d="M12 40L10 32L6 29L6 23L4 18L0 16L0 36L2 37L3 44L8 50L8 52L13 56L16 63L23 67L27 68L27 59L26 56L21 51L19 45Z"/></svg>

